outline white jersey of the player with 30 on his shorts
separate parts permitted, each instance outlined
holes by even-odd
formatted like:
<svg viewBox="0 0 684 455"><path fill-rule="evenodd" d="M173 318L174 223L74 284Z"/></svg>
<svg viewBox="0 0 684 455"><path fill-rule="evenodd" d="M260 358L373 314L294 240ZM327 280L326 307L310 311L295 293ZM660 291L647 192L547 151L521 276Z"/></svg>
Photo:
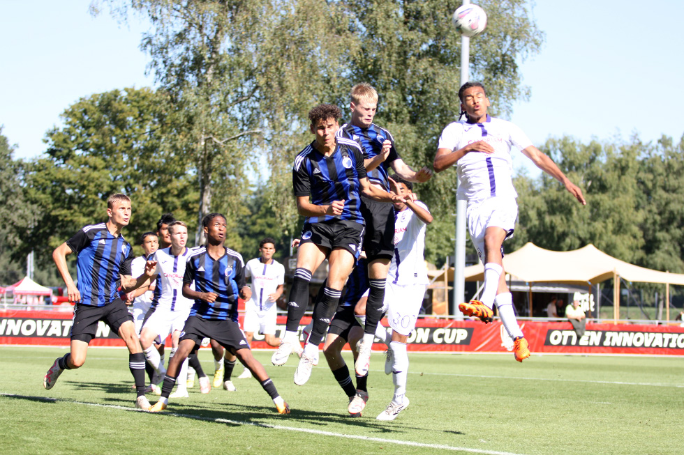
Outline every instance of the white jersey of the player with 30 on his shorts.
<svg viewBox="0 0 684 455"><path fill-rule="evenodd" d="M415 203L428 210L424 203ZM408 207L394 212L394 257L389 263L387 281L402 286L428 284L424 249L425 223Z"/></svg>

